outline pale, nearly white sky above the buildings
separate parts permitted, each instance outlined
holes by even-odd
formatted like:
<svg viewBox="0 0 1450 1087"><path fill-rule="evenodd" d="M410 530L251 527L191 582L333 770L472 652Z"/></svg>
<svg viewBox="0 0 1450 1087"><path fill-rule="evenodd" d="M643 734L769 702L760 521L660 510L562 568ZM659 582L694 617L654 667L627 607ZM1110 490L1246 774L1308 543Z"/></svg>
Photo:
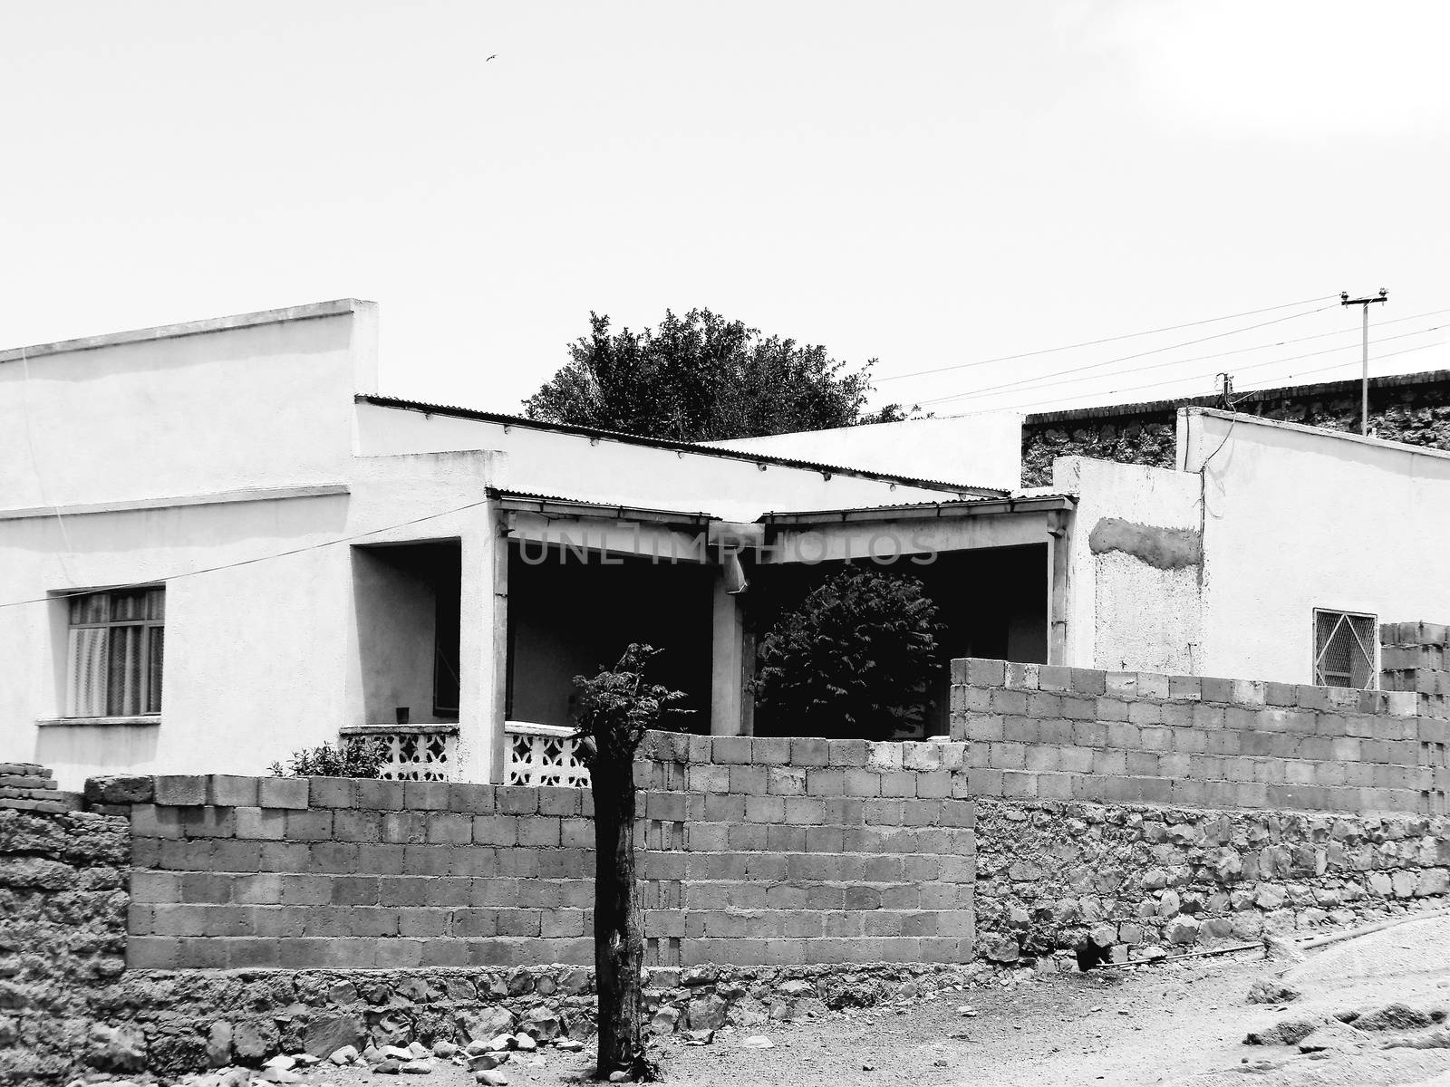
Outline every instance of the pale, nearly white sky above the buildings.
<svg viewBox="0 0 1450 1087"><path fill-rule="evenodd" d="M4 4L0 346L351 296L384 393L516 412L590 312L710 307L950 415L1354 377L1338 293L1383 287L1372 372L1450 368L1446 41L1437 0Z"/></svg>

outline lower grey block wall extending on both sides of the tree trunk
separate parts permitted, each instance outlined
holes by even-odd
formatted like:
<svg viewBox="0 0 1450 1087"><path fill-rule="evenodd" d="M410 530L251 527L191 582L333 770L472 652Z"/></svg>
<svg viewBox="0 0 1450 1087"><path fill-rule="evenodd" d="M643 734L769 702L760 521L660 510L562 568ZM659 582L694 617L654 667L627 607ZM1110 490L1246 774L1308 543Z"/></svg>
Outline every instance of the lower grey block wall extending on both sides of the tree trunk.
<svg viewBox="0 0 1450 1087"><path fill-rule="evenodd" d="M651 735L651 965L972 955L964 746ZM158 777L129 809L128 965L593 962L587 790Z"/></svg>

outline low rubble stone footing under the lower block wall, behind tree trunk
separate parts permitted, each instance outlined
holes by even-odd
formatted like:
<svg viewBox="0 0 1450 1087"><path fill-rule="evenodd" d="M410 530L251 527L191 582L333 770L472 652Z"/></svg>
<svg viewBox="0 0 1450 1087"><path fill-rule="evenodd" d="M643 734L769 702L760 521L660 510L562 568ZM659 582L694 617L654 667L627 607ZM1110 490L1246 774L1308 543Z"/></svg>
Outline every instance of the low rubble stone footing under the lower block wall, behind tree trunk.
<svg viewBox="0 0 1450 1087"><path fill-rule="evenodd" d="M695 967L650 970L655 1033L753 1026L825 1009L871 1006L961 984L960 965ZM130 971L96 1001L104 1029L136 1039L146 1068L180 1075L278 1054L328 1057L368 1044L431 1046L528 1033L544 1044L596 1032L593 971ZM29 1081L28 1081L29 1083Z"/></svg>

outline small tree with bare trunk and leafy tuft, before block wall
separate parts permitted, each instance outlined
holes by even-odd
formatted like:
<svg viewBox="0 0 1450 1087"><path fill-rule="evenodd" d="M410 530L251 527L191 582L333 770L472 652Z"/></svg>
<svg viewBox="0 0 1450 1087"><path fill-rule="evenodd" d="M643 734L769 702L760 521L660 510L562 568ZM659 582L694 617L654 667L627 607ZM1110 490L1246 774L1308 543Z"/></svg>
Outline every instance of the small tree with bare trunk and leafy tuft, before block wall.
<svg viewBox="0 0 1450 1087"><path fill-rule="evenodd" d="M658 1078L644 1046L639 970L644 965L644 912L635 884L634 759L648 729L684 713L684 697L644 680L658 654L631 644L613 668L576 675L580 749L594 794L594 983L599 988L599 1075L622 1071L634 1080Z"/></svg>

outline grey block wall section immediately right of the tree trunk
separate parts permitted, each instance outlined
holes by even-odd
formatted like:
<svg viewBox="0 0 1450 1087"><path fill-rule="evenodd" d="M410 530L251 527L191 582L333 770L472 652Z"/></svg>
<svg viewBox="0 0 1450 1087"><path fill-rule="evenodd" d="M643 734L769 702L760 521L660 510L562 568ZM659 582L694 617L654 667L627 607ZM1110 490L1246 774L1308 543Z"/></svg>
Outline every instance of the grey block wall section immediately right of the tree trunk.
<svg viewBox="0 0 1450 1087"><path fill-rule="evenodd" d="M961 744L651 733L647 961L966 962Z"/></svg>

